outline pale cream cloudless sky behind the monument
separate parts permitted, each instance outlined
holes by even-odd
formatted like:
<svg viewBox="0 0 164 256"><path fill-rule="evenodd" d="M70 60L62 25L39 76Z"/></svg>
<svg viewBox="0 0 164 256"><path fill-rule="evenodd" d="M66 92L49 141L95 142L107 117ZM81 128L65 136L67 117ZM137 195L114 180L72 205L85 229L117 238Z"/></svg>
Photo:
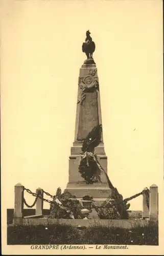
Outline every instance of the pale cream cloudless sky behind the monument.
<svg viewBox="0 0 164 256"><path fill-rule="evenodd" d="M90 30L108 175L123 198L163 191L162 2L2 1L2 204L14 185L66 188ZM159 194L159 201L162 200ZM25 193L28 204L34 197ZM47 198L47 197L45 197ZM142 196L130 202L142 210ZM49 208L44 203L44 208Z"/></svg>

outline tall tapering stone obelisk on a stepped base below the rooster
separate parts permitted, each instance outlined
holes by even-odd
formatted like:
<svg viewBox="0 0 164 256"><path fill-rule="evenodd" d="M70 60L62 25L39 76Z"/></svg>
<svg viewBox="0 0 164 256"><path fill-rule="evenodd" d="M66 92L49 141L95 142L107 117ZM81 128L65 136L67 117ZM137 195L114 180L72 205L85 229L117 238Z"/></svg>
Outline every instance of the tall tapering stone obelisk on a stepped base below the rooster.
<svg viewBox="0 0 164 256"><path fill-rule="evenodd" d="M79 173L82 143L94 126L102 124L98 70L92 58L95 43L92 41L89 31L86 32L86 40L82 50L86 53L87 59L80 68L79 74L75 139L71 147L71 156L69 156L69 180L65 192L68 191L78 199L86 195L92 196L96 204L100 205L112 194L106 176L102 173L101 182L86 184ZM107 156L104 151L103 134L101 143L95 148L95 154L107 173Z"/></svg>

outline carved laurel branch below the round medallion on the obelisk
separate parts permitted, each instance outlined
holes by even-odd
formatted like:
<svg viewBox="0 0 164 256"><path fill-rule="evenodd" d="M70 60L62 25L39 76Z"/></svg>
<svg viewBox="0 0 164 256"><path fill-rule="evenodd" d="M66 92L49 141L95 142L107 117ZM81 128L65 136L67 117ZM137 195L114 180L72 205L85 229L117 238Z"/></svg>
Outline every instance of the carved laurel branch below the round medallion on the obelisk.
<svg viewBox="0 0 164 256"><path fill-rule="evenodd" d="M81 91L80 91L80 95L78 97L78 102L82 104L83 100L86 97L86 93L90 92L93 88L95 90L99 89L99 82L96 80L93 84L91 84L90 86L87 86L83 81L80 83L80 87L81 87Z"/></svg>

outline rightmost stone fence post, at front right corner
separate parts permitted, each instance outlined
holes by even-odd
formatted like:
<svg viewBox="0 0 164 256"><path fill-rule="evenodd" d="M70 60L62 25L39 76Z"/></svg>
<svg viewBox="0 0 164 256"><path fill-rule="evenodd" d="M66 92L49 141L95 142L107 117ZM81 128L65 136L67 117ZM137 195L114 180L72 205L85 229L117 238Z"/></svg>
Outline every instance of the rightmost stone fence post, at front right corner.
<svg viewBox="0 0 164 256"><path fill-rule="evenodd" d="M150 186L150 220L158 220L158 187Z"/></svg>

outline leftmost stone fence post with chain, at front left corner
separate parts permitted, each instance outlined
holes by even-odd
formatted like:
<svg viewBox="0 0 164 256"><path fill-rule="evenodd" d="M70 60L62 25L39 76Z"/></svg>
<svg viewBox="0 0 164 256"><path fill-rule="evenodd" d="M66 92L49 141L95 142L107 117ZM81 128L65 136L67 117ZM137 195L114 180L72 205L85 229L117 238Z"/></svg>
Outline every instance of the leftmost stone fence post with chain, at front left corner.
<svg viewBox="0 0 164 256"><path fill-rule="evenodd" d="M15 201L14 201L14 220L15 224L21 223L23 214L22 210L24 209L24 186L20 183L14 186L14 194L15 194Z"/></svg>

